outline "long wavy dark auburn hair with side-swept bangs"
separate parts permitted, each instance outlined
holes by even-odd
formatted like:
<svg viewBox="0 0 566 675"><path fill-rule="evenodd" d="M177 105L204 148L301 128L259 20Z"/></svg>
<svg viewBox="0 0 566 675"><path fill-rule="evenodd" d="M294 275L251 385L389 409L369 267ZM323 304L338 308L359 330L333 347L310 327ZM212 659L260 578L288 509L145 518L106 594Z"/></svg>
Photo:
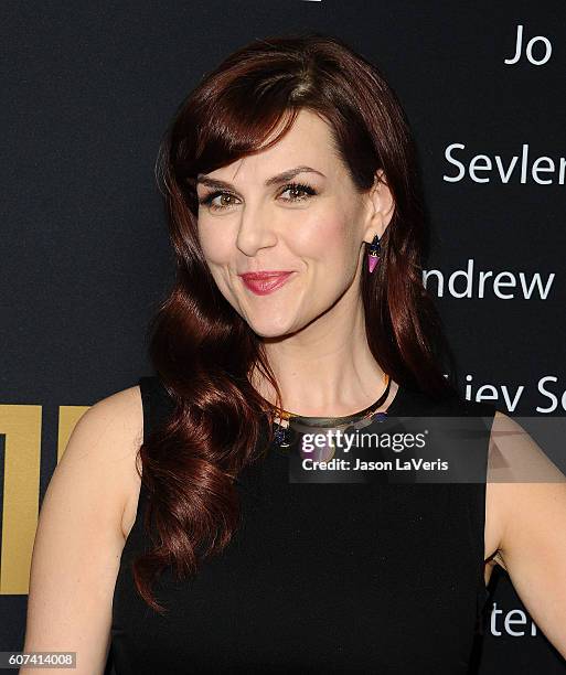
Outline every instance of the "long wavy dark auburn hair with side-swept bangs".
<svg viewBox="0 0 566 675"><path fill-rule="evenodd" d="M177 277L150 321L149 352L174 411L139 449L150 497L145 527L154 528L154 538L132 570L139 593L159 612L165 608L153 598L153 578L169 565L178 578L196 574L238 526L234 483L260 457L261 419L268 420L269 438L274 431L265 415L274 408L250 384L254 368L271 383L282 407L261 340L222 296L205 262L195 178L270 147L300 109L329 122L357 191L367 191L383 169L394 197L381 264L372 275L364 266L361 280L373 356L401 386L435 398L456 394L442 374L444 360L452 363L453 356L423 285L420 180L396 95L375 65L334 36L276 36L238 49L182 101L156 164Z"/></svg>

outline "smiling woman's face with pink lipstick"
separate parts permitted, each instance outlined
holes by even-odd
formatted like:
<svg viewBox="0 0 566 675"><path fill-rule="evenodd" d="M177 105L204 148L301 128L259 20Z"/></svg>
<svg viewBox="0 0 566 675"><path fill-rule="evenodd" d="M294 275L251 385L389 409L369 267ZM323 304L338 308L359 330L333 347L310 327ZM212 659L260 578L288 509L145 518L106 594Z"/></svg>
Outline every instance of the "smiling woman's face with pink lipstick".
<svg viewBox="0 0 566 675"><path fill-rule="evenodd" d="M384 183L355 191L323 119L300 110L271 148L199 176L197 195L211 274L258 335L295 333L329 311L351 317L338 308L357 302L363 242L383 234L393 204ZM241 276L263 271L289 274Z"/></svg>

